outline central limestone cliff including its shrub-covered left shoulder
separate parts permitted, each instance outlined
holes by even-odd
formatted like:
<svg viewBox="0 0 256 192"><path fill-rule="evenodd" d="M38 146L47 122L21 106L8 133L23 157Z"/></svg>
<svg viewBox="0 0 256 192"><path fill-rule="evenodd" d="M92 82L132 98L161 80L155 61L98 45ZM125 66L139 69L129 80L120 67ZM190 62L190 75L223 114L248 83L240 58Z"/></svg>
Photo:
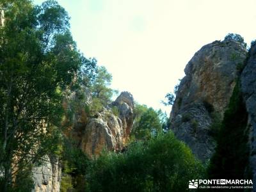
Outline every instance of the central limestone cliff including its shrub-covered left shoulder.
<svg viewBox="0 0 256 192"><path fill-rule="evenodd" d="M134 119L134 99L131 93L120 93L114 102L94 116L87 109L90 104L92 95L87 88L82 87L77 93L70 94L64 102L65 110L71 111L67 122L64 122L69 127L65 135L76 141L77 147L81 147L90 157L98 155L104 148L121 150L129 140Z"/></svg>

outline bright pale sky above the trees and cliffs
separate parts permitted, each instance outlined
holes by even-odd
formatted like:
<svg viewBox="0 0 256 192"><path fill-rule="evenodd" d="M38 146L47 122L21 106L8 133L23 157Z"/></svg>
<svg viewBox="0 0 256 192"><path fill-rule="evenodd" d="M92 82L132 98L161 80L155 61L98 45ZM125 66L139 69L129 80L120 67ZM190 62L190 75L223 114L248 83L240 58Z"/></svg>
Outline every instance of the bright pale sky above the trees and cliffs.
<svg viewBox="0 0 256 192"><path fill-rule="evenodd" d="M35 4L43 1L35 0ZM203 45L256 39L255 0L59 0L77 47L113 76L112 88L170 113L161 100Z"/></svg>

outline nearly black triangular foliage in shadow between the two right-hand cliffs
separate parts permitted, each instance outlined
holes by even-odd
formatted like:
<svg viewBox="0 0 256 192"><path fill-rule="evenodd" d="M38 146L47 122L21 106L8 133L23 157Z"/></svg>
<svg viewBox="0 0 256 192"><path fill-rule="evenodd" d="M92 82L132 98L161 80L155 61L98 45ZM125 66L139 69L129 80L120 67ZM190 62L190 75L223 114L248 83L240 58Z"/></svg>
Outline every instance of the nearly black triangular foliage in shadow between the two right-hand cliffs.
<svg viewBox="0 0 256 192"><path fill-rule="evenodd" d="M244 179L249 156L247 119L248 114L237 81L221 123L216 152L209 164L210 178Z"/></svg>

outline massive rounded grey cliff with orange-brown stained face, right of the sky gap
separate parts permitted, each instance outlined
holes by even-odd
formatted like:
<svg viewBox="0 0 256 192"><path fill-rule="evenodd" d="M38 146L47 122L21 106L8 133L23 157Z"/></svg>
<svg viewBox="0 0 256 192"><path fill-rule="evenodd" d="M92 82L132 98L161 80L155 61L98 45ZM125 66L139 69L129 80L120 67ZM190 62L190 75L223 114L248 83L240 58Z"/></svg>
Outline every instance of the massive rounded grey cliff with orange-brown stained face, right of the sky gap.
<svg viewBox="0 0 256 192"><path fill-rule="evenodd" d="M202 161L214 152L216 118L223 118L236 84L246 47L239 42L215 41L202 47L185 68L170 115L171 129Z"/></svg>

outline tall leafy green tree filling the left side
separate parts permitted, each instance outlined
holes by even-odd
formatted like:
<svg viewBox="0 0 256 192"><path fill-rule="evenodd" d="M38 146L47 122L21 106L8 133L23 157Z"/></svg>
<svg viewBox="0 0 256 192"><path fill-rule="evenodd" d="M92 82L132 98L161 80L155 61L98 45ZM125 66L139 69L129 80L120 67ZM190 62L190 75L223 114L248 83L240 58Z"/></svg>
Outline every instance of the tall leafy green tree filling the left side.
<svg viewBox="0 0 256 192"><path fill-rule="evenodd" d="M86 73L93 65L88 67L92 62L77 51L68 14L56 1L41 6L29 0L4 1L2 6L0 172L1 191L11 191L13 176L24 175L45 154L58 152L63 90L80 79L81 68Z"/></svg>

